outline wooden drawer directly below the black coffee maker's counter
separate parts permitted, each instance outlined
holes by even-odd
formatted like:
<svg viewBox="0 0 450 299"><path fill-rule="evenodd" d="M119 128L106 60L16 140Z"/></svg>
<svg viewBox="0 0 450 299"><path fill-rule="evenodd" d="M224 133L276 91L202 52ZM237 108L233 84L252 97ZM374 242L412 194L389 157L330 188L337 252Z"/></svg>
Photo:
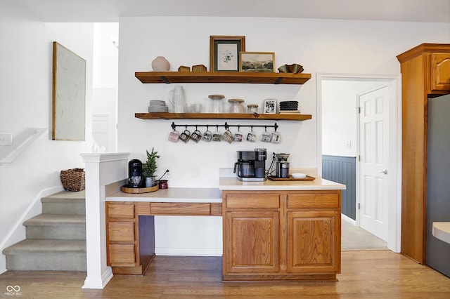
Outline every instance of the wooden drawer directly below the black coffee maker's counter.
<svg viewBox="0 0 450 299"><path fill-rule="evenodd" d="M226 208L279 208L279 194L226 194Z"/></svg>

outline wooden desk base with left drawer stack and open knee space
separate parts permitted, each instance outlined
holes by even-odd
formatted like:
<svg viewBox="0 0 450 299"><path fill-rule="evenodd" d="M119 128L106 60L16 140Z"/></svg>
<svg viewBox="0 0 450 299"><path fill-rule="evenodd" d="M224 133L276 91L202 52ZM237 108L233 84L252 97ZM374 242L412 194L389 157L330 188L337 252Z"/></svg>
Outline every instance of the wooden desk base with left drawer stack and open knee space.
<svg viewBox="0 0 450 299"><path fill-rule="evenodd" d="M154 215L220 216L221 204L107 201L106 253L114 274L145 274L155 258Z"/></svg>

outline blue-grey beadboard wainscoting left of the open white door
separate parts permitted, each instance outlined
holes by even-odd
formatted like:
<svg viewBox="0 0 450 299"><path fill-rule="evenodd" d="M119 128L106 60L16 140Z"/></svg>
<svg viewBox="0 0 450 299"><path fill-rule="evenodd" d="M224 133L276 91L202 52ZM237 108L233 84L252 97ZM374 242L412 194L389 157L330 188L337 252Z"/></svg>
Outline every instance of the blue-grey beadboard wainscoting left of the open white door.
<svg viewBox="0 0 450 299"><path fill-rule="evenodd" d="M342 214L356 220L356 157L322 155L322 177L347 186L342 190Z"/></svg>

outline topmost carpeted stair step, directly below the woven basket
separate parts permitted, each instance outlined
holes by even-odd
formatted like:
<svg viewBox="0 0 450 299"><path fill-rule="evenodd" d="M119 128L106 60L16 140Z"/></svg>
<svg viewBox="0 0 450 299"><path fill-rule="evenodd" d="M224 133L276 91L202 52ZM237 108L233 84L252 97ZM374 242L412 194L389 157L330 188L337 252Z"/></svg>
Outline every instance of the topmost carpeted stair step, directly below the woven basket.
<svg viewBox="0 0 450 299"><path fill-rule="evenodd" d="M86 214L86 192L63 191L42 197L42 213L44 214Z"/></svg>

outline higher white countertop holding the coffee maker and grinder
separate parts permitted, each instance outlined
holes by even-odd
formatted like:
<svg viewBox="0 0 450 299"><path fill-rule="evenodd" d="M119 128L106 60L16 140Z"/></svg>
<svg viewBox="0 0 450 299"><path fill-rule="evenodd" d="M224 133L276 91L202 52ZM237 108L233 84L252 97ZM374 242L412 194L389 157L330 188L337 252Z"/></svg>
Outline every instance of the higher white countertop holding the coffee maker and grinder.
<svg viewBox="0 0 450 299"><path fill-rule="evenodd" d="M315 180L289 180L264 182L243 182L236 177L221 177L219 180L220 190L345 190L345 185L332 182L323 178Z"/></svg>

